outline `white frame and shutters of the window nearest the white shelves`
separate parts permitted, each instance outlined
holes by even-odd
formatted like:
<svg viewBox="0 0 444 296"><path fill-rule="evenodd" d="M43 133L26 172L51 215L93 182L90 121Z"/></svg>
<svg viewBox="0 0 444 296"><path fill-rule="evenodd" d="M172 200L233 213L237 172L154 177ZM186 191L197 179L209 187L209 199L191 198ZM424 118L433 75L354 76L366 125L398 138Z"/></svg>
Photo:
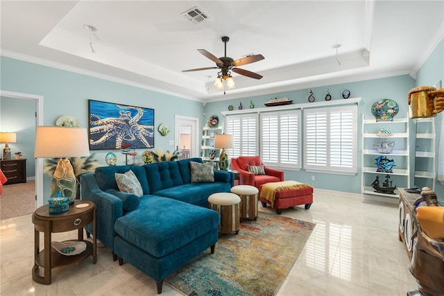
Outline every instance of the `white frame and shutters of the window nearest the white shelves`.
<svg viewBox="0 0 444 296"><path fill-rule="evenodd" d="M319 108L310 108L304 110L304 169L307 172L318 172L318 173L335 173L341 175L356 175L357 174L357 105L347 105L341 107L319 107ZM338 117L338 112L346 112L348 116L340 116ZM351 112L351 114L350 114ZM309 119L316 114L320 116L318 122L318 128L314 127L314 121L310 121ZM325 117L323 118L323 114ZM332 116L333 114L333 116ZM336 116L336 118L335 118ZM339 137L341 139L345 139L345 141L341 140L341 143L345 143L345 147L350 145L351 148L351 157L349 158L352 161L351 166L334 166L332 165L332 151L335 148L335 143L337 146L338 141L334 141L334 137L337 137L337 134L334 134L334 127L332 127L333 121L336 119L342 120L351 120L352 123L349 125L351 128L349 130L343 130L343 123L341 123L341 130L336 130L336 132L340 132ZM324 131L324 132L323 132ZM343 134L342 134L343 133ZM351 137L351 139L350 139ZM316 139L315 139L316 138ZM322 143L324 142L324 143ZM314 148L318 143L321 143L321 146ZM315 152L313 155L313 150L318 149L319 153ZM346 149L346 148L344 148ZM341 150L342 151L342 150ZM342 154L342 152L341 152ZM319 160L314 160L314 157L319 156ZM310 159L311 158L311 159ZM341 158L341 157L339 157Z"/></svg>

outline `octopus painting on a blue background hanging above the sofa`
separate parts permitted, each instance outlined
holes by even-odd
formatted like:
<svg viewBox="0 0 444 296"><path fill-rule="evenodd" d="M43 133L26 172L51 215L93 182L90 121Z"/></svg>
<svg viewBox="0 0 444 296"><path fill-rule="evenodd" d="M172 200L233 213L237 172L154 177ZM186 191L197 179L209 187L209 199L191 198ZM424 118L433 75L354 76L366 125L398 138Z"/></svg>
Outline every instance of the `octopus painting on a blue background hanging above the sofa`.
<svg viewBox="0 0 444 296"><path fill-rule="evenodd" d="M89 149L154 148L154 109L88 100Z"/></svg>

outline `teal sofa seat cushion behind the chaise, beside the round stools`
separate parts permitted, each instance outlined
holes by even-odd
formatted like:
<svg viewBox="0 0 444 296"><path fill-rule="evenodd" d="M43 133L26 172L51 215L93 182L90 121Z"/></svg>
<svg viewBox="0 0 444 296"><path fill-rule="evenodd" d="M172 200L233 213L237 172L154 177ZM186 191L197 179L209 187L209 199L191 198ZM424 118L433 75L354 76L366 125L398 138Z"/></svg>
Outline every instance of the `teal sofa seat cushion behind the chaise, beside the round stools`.
<svg viewBox="0 0 444 296"><path fill-rule="evenodd" d="M173 198L200 207L208 207L208 197L217 192L230 192L231 184L223 182L188 183L156 191L155 195Z"/></svg>

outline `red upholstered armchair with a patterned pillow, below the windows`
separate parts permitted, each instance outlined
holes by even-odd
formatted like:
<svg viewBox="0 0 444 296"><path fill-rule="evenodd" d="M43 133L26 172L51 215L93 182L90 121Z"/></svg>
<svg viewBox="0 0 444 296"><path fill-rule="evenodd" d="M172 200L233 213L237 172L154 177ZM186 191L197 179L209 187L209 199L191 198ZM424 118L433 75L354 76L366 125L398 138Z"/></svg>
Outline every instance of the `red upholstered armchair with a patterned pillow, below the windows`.
<svg viewBox="0 0 444 296"><path fill-rule="evenodd" d="M259 186L268 182L284 181L284 171L264 166L265 175L255 175L247 171L247 166L264 166L264 164L259 156L239 156L231 159L231 169L241 174L239 180L241 185L251 185L259 189Z"/></svg>

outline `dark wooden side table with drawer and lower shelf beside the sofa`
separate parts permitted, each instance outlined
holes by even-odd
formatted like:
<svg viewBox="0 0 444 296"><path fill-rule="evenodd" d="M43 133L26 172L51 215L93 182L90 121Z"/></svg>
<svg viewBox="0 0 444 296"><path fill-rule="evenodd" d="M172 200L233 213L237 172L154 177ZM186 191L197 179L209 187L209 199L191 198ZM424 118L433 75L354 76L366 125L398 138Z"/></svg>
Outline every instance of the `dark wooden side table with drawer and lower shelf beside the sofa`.
<svg viewBox="0 0 444 296"><path fill-rule="evenodd" d="M86 207L76 207L87 204ZM62 214L49 214L48 204L35 210L34 224L34 266L33 280L39 284L51 284L51 269L73 265L92 255L93 263L97 262L96 253L96 205L89 200L76 200L69 206L69 211ZM93 242L84 241L86 250L74 256L62 255L51 246L51 234L56 232L69 232L78 229L78 241L83 241L83 227L92 223ZM40 251L40 232L44 233L44 250ZM39 269L44 268L44 276Z"/></svg>

